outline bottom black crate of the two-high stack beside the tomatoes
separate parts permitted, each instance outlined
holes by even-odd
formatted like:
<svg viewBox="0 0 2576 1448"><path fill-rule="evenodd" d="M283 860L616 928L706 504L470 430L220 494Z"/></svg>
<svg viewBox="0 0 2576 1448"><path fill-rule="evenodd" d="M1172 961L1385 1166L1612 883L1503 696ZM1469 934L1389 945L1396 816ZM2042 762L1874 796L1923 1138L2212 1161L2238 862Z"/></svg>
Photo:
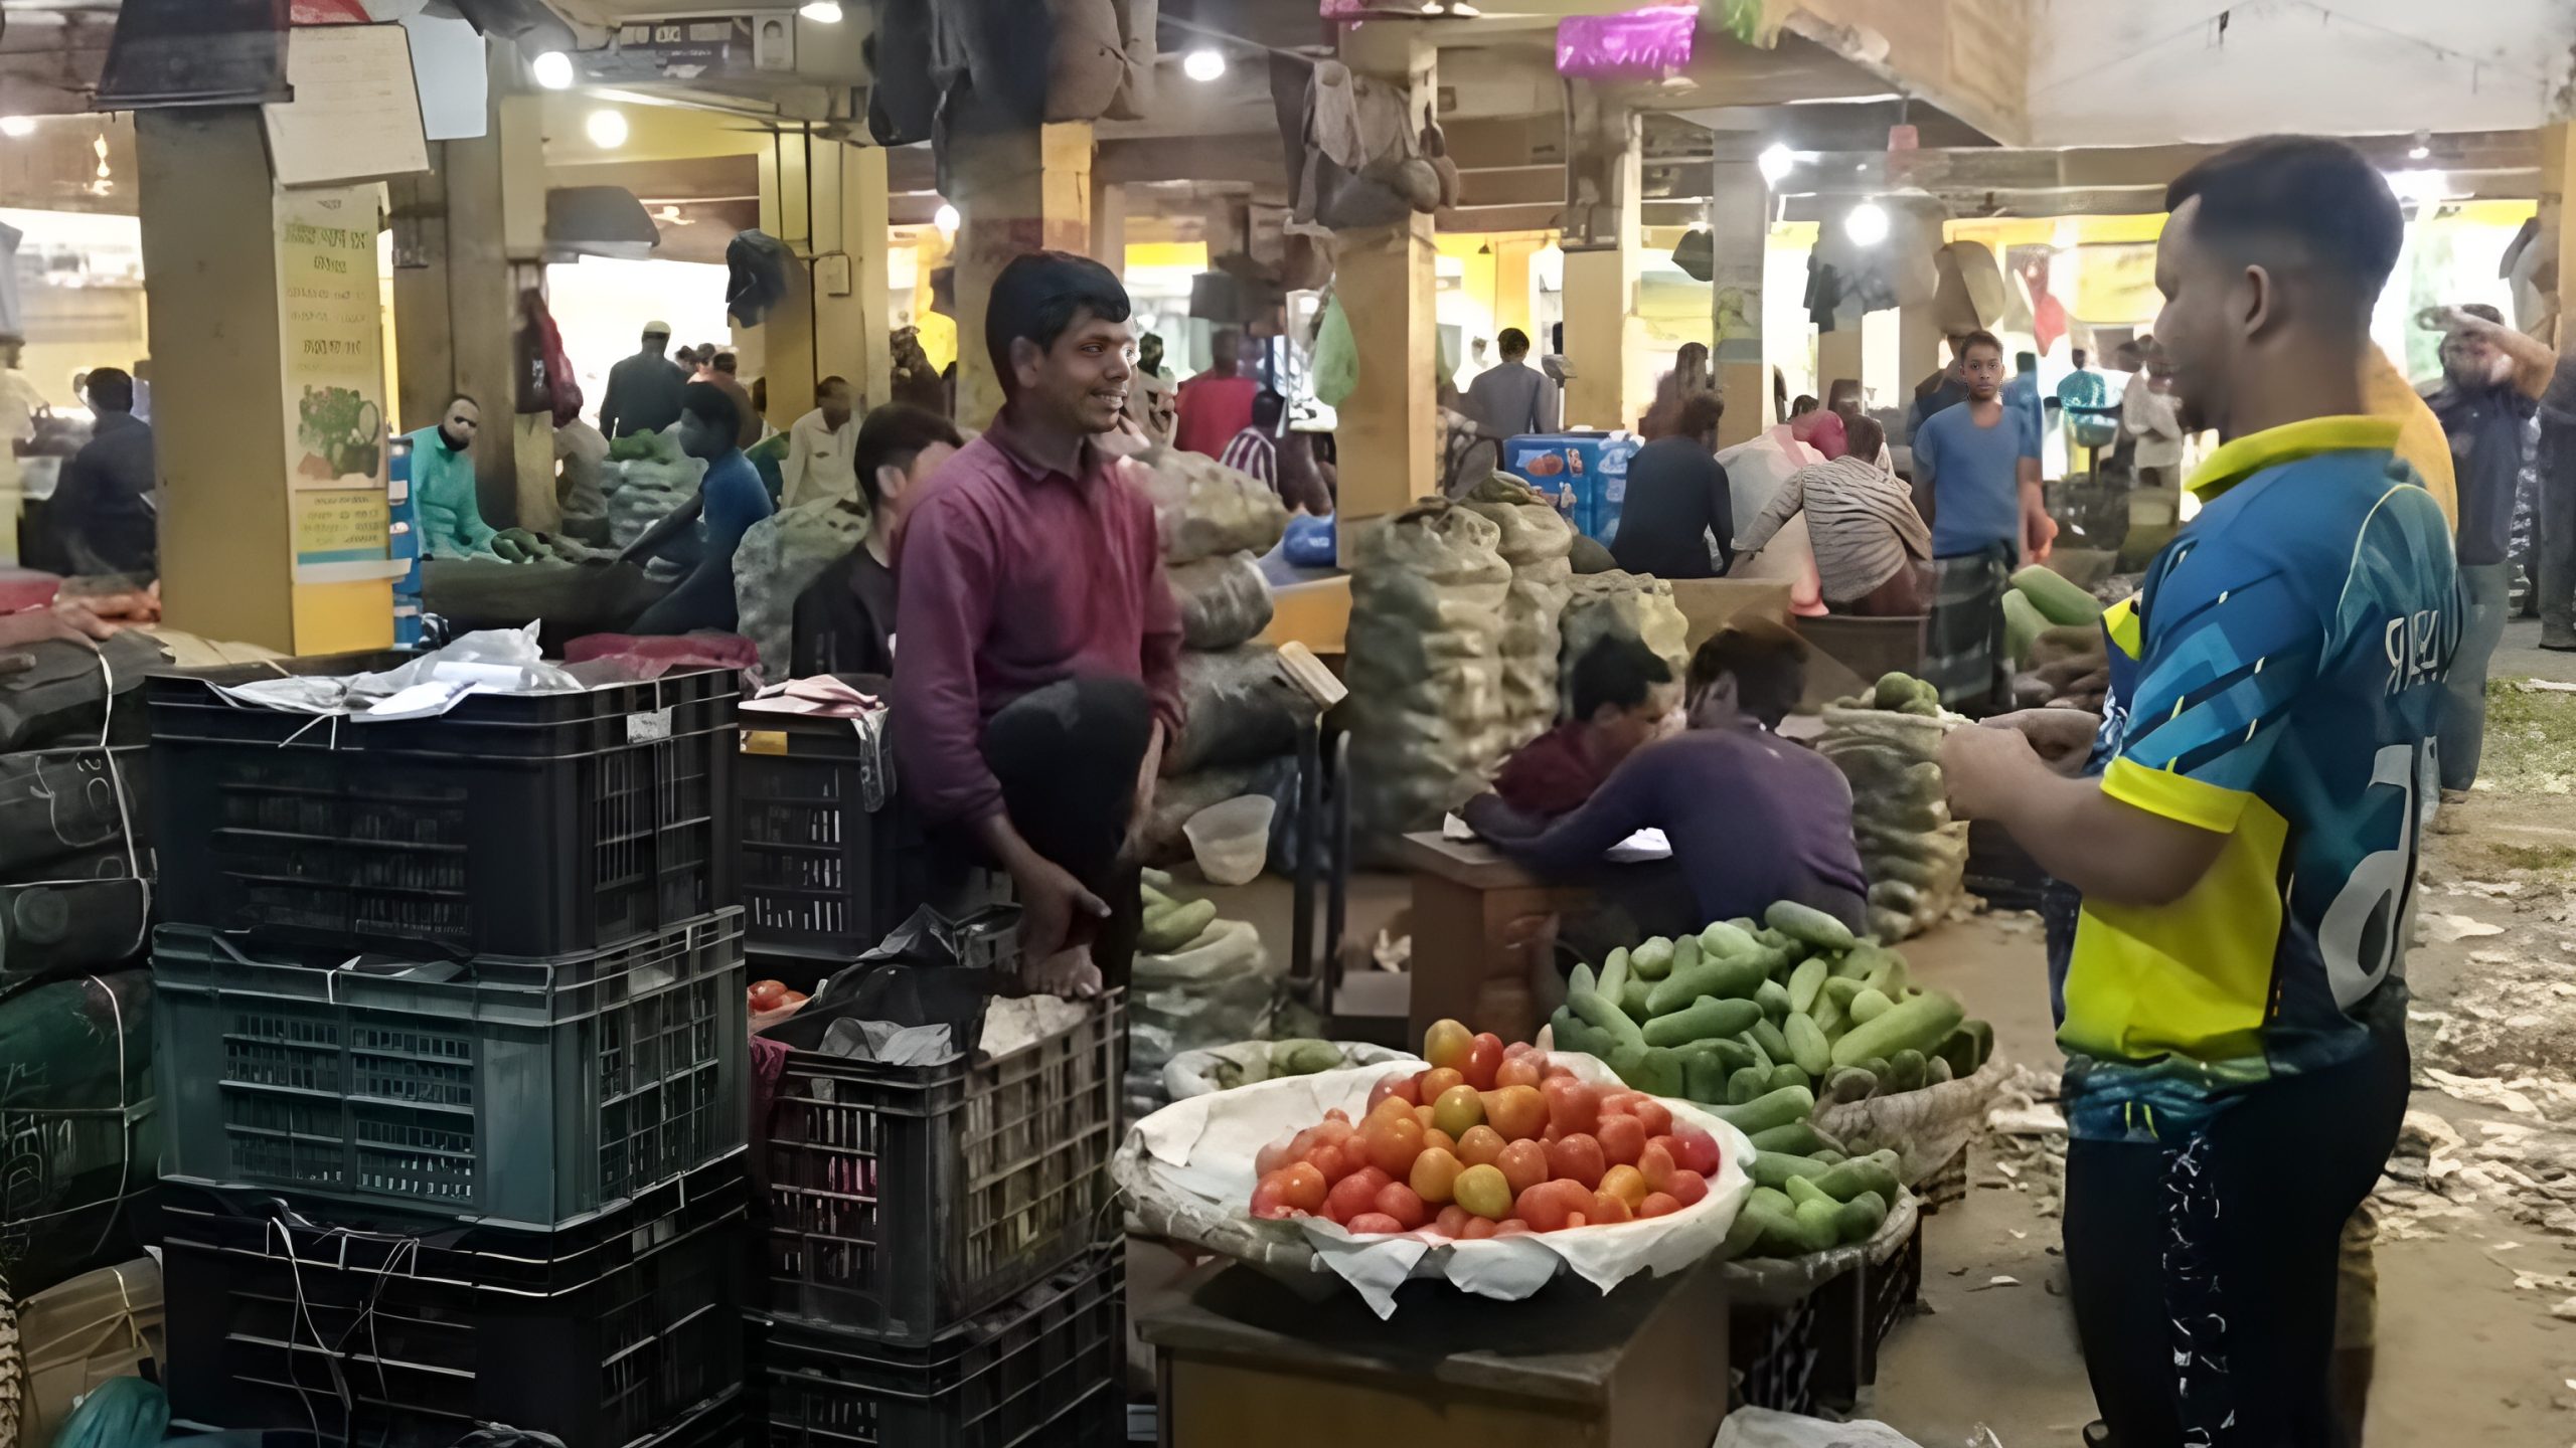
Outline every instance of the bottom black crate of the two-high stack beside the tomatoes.
<svg viewBox="0 0 2576 1448"><path fill-rule="evenodd" d="M1126 1443L1126 1250L922 1348L768 1324L770 1448L1010 1448Z"/></svg>

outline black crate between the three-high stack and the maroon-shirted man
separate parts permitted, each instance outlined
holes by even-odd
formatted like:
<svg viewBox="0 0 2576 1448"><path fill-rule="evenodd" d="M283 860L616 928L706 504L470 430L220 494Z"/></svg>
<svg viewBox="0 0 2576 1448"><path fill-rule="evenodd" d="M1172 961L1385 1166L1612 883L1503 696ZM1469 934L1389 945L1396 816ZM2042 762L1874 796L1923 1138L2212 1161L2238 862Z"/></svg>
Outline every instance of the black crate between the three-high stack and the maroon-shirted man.
<svg viewBox="0 0 2576 1448"><path fill-rule="evenodd" d="M920 814L850 719L744 711L737 770L752 951L850 961L930 897Z"/></svg>

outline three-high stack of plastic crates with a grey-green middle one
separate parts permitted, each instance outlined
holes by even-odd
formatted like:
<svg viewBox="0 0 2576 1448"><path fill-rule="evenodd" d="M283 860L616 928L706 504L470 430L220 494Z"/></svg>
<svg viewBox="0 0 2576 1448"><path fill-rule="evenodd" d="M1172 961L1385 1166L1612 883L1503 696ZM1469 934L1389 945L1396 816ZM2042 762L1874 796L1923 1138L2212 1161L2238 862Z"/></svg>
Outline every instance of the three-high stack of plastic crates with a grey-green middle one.
<svg viewBox="0 0 2576 1448"><path fill-rule="evenodd" d="M173 1415L737 1443L734 675L407 721L216 693L268 675L149 685Z"/></svg>

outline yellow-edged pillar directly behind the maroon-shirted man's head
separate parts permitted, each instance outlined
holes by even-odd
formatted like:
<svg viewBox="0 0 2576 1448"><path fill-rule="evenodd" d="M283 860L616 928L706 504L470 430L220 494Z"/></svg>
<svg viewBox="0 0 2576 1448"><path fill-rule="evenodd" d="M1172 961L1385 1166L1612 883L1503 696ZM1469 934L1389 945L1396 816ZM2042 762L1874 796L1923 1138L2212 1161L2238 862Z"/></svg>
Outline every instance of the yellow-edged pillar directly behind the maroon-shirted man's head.
<svg viewBox="0 0 2576 1448"><path fill-rule="evenodd" d="M984 348L984 304L1010 258L1092 245L1092 126L951 137L948 201L958 209L958 428L1002 410L1002 379Z"/></svg>

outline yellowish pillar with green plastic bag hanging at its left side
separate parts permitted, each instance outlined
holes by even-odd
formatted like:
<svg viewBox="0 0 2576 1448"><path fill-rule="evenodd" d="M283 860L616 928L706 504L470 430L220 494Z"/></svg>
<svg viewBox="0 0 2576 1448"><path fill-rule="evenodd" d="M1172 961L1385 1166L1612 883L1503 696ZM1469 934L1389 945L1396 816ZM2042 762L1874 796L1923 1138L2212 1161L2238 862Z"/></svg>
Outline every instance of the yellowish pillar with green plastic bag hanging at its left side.
<svg viewBox="0 0 2576 1448"><path fill-rule="evenodd" d="M1437 49L1422 26L1376 21L1342 36L1355 75L1401 85L1422 116L1437 90ZM1350 567L1365 531L1440 490L1440 268L1432 219L1340 232L1334 299L1360 350L1360 389L1342 399L1337 538Z"/></svg>

